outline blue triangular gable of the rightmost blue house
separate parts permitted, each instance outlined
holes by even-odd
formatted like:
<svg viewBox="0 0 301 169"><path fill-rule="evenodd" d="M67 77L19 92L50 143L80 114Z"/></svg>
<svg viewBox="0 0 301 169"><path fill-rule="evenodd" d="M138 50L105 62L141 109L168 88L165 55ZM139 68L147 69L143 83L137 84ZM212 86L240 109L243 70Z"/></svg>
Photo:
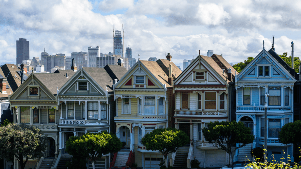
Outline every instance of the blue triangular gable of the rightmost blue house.
<svg viewBox="0 0 301 169"><path fill-rule="evenodd" d="M295 80L295 78L287 72L267 51L264 49L237 75L237 80L254 80L259 78L257 75L258 66L270 66L271 77L278 77L279 80ZM253 77L253 78L251 78ZM271 78L266 77L266 78ZM268 79L266 79L268 80Z"/></svg>

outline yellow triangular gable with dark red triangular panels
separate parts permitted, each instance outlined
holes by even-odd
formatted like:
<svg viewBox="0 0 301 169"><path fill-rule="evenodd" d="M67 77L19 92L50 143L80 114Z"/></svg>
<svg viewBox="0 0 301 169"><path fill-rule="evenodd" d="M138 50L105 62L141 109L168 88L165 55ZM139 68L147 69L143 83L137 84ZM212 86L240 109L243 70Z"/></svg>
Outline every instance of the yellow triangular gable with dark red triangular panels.
<svg viewBox="0 0 301 169"><path fill-rule="evenodd" d="M134 88L134 75L145 75L146 88L164 88L163 84L138 60L129 71L115 84L117 88ZM167 75L166 75L167 76ZM151 83L148 83L148 82ZM151 85L148 85L151 84ZM142 85L135 85L135 88L141 88Z"/></svg>

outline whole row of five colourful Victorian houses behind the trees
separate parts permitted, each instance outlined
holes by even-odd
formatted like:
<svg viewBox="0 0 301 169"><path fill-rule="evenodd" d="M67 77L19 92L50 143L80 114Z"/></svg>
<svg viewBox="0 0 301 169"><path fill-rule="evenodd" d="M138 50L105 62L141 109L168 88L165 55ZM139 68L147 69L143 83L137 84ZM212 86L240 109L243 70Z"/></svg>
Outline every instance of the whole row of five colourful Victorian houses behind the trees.
<svg viewBox="0 0 301 169"><path fill-rule="evenodd" d="M49 138L44 158L28 161L28 168L39 168L49 157L56 158L51 164L56 168L70 137L102 131L116 134L127 149L103 156L96 168L134 162L144 169L159 168L162 154L145 150L140 140L154 129L168 127L185 131L191 140L181 153L170 155L170 165L181 167L177 159L184 158L184 167L190 167L195 158L201 167L221 167L229 163L228 154L209 144L201 129L210 122L231 120L243 122L255 136L254 143L237 149L234 160L251 159L250 150L264 144L265 93L268 157L293 157L295 147L279 143L278 132L301 117L300 78L274 48L263 49L239 74L216 54L199 55L183 72L171 58L168 54L156 62L138 60L129 71L119 60L119 65L104 68L72 66L28 75L8 95L13 121L33 125Z"/></svg>

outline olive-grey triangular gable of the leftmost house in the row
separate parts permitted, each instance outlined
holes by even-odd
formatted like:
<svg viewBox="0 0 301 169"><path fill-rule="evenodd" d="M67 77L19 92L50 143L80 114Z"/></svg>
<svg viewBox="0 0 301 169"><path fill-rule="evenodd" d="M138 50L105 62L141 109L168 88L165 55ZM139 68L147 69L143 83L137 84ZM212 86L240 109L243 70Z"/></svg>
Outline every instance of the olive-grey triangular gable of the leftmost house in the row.
<svg viewBox="0 0 301 169"><path fill-rule="evenodd" d="M38 95L30 95L30 88L38 88ZM55 100L55 96L32 73L10 96L10 100Z"/></svg>

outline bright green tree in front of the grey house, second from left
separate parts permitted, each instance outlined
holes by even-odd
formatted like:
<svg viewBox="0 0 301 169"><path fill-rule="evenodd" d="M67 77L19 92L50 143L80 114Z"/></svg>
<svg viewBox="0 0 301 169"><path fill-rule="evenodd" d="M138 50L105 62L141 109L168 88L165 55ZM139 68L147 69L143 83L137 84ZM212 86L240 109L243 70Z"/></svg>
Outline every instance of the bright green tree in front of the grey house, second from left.
<svg viewBox="0 0 301 169"><path fill-rule="evenodd" d="M122 143L116 135L107 133L87 133L80 137L71 137L66 142L66 152L70 155L88 158L95 169L95 161L105 154L118 152Z"/></svg>

